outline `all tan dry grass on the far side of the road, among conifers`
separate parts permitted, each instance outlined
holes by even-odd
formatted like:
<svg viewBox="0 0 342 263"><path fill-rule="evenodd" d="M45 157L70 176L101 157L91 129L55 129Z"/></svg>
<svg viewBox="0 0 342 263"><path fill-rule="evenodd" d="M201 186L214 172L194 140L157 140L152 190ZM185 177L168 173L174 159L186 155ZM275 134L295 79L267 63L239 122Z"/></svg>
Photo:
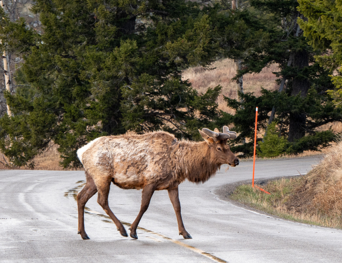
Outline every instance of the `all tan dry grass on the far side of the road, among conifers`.
<svg viewBox="0 0 342 263"><path fill-rule="evenodd" d="M183 79L188 79L192 86L199 92L205 93L209 87L214 88L218 85L222 86L222 93L218 98L219 108L228 113L234 114L233 109L228 108L226 102L223 100L223 95L230 98L237 98L236 82L232 78L236 74L236 67L233 60L223 59L216 61L211 65L212 70L205 70L202 67L193 67L183 72ZM246 74L244 75L244 91L253 92L254 95L261 95L261 87L267 90L278 89L278 85L275 83L276 76L272 71L278 71L277 65L271 65L270 67L264 68L259 74ZM327 124L326 127L321 127L321 130L329 129L330 126L335 132L342 132L342 123L336 122L333 124ZM262 137L264 131L258 134L258 137ZM61 161L60 153L57 151L58 145L51 144L51 146L45 150L42 154L35 157L35 170L64 170L60 167L59 162ZM324 154L327 150L322 149L322 152L305 151L302 154L292 156L285 155L281 158L293 158L303 157L310 155ZM250 159L250 158L247 158ZM6 166L8 160L0 155L0 169L10 169ZM29 167L15 167L14 169L27 170ZM80 169L83 170L83 169Z"/></svg>

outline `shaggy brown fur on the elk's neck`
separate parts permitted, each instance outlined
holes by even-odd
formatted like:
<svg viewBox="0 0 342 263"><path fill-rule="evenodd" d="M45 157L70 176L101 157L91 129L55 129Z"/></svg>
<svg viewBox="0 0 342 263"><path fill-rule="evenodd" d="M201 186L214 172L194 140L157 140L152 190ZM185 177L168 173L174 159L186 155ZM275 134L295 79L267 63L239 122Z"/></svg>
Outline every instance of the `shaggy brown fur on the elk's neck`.
<svg viewBox="0 0 342 263"><path fill-rule="evenodd" d="M206 142L181 141L175 151L177 181L206 182L220 168L221 163L210 156Z"/></svg>

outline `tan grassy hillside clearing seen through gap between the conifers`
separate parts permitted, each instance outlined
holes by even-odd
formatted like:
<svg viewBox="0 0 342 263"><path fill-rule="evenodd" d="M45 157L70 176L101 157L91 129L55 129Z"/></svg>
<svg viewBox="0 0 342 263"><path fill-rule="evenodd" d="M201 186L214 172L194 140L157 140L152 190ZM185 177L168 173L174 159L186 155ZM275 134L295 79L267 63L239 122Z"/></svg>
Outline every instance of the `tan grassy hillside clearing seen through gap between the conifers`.
<svg viewBox="0 0 342 263"><path fill-rule="evenodd" d="M223 100L223 95L237 98L236 82L232 80L236 74L234 61L228 58L218 60L210 67L214 69L206 70L203 67L186 69L182 75L183 79L188 79L192 83L192 87L199 93L205 93L209 87L214 88L221 85L222 93L218 99L219 108L228 113L234 113ZM277 78L272 71L278 71L276 64L264 68L259 74L244 75L244 91L253 92L254 95L260 96L261 87L267 90L278 89L278 85L275 83Z"/></svg>

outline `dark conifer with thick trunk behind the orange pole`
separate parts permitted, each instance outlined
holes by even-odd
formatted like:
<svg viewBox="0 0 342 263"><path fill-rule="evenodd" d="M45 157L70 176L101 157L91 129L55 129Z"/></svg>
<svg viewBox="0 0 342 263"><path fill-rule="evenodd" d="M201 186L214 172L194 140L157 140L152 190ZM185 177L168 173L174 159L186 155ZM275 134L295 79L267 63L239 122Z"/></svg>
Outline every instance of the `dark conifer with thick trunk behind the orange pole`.
<svg viewBox="0 0 342 263"><path fill-rule="evenodd" d="M264 130L267 122L271 123L274 118L279 123L281 135L287 137L293 145L293 152L317 149L320 144L327 145L333 139L333 133L319 133L316 129L329 122L340 121L341 111L333 106L326 94L332 87L329 81L331 71L314 61L314 56L321 51L308 45L297 24L299 17L304 19L303 14L296 10L298 2L252 0L250 3L251 8L246 9L241 19L250 31L257 26L262 29L259 42L263 45L250 44L249 50L244 49L245 53L249 51L244 58L244 72L259 72L264 66L277 63L280 70L275 74L280 77L280 87L276 92L263 90L262 96L258 98L253 94L245 94L242 103L225 98L228 106L236 110L234 116L227 118L241 132L233 149L246 155L251 154L251 143L244 144L243 136L252 141L254 120L248 116L253 116L255 106L259 107L258 126ZM252 14L258 19L249 18ZM242 37L245 30L235 34ZM250 39L258 39L257 34L251 36ZM268 117L270 111L271 117ZM304 147L301 142L308 138L312 140Z"/></svg>

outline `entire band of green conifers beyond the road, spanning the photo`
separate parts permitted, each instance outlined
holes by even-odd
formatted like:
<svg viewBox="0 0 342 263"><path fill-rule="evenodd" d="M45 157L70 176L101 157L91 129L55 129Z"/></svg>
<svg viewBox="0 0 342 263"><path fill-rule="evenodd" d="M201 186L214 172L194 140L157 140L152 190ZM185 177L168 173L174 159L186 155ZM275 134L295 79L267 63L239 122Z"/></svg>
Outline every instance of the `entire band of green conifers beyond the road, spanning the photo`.
<svg viewBox="0 0 342 263"><path fill-rule="evenodd" d="M14 116L0 118L1 152L14 166L34 167L34 157L54 141L61 165L78 167L76 150L98 136L163 129L199 140L198 128L230 124L239 133L232 150L248 156L256 106L259 131L277 123L263 143L258 139L261 155L329 145L329 125L342 119L341 0L231 6L231 0L37 0L32 11L42 34L22 18L10 22L1 9L0 48L24 59L15 92L4 93ZM279 90L224 97L235 114L219 110L220 86L198 94L181 73L225 57L240 63L235 79L277 63ZM279 149L266 154L273 143Z"/></svg>

